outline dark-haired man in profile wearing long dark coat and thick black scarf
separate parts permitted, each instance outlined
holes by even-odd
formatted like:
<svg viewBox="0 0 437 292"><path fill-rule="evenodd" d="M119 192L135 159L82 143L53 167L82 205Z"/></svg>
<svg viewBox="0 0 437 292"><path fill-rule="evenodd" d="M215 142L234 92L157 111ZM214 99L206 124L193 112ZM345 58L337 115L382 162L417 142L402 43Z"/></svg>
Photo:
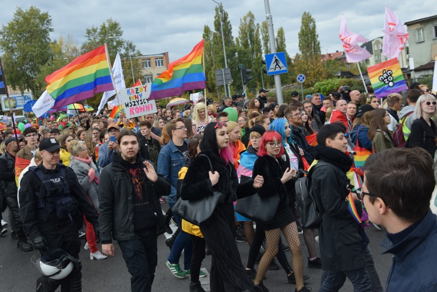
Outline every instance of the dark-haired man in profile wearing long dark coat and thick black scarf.
<svg viewBox="0 0 437 292"><path fill-rule="evenodd" d="M317 133L315 159L317 164L311 176L311 186L317 208L322 214L319 229L322 269L327 271L319 292L338 291L348 278L355 292L370 292L371 281L364 264L361 226L349 211L348 195L352 186L346 176L352 159L346 154L345 129L339 124L324 125ZM316 164L316 165L317 165ZM361 201L354 198L361 217Z"/></svg>

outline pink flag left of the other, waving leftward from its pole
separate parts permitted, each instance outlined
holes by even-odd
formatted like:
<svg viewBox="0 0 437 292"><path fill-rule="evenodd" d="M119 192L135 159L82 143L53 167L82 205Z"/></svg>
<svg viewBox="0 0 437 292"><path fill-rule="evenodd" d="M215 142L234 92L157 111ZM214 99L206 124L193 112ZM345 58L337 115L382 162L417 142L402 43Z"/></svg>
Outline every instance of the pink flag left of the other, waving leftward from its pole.
<svg viewBox="0 0 437 292"><path fill-rule="evenodd" d="M340 27L340 40L342 40L348 63L361 62L370 57L370 53L358 44L358 42L367 42L367 38L364 38L361 34L349 31L346 28L346 18L344 15L342 15L342 25Z"/></svg>

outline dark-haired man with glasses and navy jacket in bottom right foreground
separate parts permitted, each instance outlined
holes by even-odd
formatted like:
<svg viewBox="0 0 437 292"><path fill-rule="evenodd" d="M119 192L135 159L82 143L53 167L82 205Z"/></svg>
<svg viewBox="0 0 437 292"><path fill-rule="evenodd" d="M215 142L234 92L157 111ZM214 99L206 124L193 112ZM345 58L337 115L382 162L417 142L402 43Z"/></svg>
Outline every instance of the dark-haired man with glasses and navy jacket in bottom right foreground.
<svg viewBox="0 0 437 292"><path fill-rule="evenodd" d="M392 254L386 292L437 291L437 222L429 209L433 160L422 148L374 153L364 165L361 194L369 220L387 229Z"/></svg>

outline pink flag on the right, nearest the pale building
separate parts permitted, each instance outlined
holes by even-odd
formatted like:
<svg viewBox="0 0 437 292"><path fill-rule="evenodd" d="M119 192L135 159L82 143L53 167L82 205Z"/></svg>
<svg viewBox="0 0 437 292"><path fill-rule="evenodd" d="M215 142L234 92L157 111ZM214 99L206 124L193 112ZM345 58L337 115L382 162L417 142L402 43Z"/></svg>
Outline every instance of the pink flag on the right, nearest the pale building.
<svg viewBox="0 0 437 292"><path fill-rule="evenodd" d="M383 54L388 59L399 57L408 40L407 29L399 22L398 16L385 7Z"/></svg>

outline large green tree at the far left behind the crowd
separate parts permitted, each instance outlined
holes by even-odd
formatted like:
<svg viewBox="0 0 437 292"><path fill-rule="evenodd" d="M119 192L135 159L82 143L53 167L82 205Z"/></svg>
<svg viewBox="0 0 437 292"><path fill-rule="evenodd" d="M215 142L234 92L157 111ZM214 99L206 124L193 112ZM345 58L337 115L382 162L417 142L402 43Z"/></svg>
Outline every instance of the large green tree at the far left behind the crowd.
<svg viewBox="0 0 437 292"><path fill-rule="evenodd" d="M0 48L8 85L34 96L45 87L36 76L40 67L53 55L50 41L52 20L48 12L35 6L28 10L17 8L12 20L0 31Z"/></svg>

